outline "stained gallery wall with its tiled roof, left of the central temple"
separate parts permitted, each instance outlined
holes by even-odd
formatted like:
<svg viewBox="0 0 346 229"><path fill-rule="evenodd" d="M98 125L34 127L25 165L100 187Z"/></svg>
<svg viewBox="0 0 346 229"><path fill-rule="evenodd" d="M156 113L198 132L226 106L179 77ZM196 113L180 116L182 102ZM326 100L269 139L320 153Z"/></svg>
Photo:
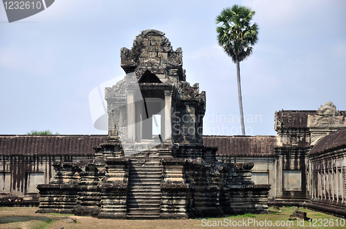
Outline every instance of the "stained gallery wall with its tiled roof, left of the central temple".
<svg viewBox="0 0 346 229"><path fill-rule="evenodd" d="M91 159L93 144L105 139L100 135L0 136L1 204L37 204L36 186L55 177L54 161ZM16 197L21 203L15 202Z"/></svg>

